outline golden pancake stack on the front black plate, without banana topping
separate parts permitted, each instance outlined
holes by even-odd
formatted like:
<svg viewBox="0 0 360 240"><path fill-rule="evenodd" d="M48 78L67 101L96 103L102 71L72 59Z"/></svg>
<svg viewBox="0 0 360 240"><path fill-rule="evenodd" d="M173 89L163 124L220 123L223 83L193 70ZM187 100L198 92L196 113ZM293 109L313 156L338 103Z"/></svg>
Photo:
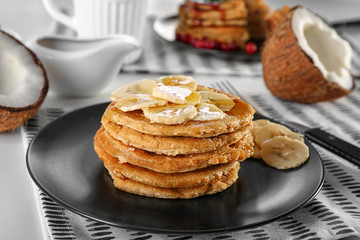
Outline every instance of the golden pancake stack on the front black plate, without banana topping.
<svg viewBox="0 0 360 240"><path fill-rule="evenodd" d="M188 199L235 183L239 161L253 152L254 109L231 98L235 106L223 119L173 125L150 122L142 110L124 112L111 102L94 148L115 187L150 197Z"/></svg>

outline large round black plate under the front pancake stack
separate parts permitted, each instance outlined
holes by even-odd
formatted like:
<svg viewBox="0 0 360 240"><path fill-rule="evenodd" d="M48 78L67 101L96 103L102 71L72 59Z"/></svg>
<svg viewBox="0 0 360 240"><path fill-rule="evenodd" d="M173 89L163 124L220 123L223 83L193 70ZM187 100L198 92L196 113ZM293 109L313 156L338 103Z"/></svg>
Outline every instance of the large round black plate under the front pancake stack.
<svg viewBox="0 0 360 240"><path fill-rule="evenodd" d="M261 160L241 163L238 181L224 192L191 200L164 200L117 190L93 150L108 103L66 114L45 126L27 152L34 182L52 199L83 216L149 232L209 233L243 229L284 216L320 190L322 161L279 171Z"/></svg>

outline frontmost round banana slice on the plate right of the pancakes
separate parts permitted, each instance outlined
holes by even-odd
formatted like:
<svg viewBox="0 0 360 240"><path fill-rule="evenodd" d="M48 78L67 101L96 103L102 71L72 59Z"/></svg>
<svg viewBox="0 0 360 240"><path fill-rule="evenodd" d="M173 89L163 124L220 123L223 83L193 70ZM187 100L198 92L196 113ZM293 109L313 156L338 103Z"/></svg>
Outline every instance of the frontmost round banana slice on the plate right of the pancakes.
<svg viewBox="0 0 360 240"><path fill-rule="evenodd" d="M309 158L309 149L299 140L276 136L261 145L261 157L271 167L289 169L303 164Z"/></svg>

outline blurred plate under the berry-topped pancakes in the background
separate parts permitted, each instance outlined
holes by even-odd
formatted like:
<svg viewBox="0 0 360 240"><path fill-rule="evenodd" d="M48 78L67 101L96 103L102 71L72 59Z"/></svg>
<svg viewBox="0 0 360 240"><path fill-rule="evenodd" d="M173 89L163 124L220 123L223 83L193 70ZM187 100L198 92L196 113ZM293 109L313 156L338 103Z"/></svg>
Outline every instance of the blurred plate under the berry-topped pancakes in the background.
<svg viewBox="0 0 360 240"><path fill-rule="evenodd" d="M255 54L247 54L243 50L221 51L216 49L196 48L189 44L182 43L176 40L175 38L175 30L178 21L179 21L178 16L174 14L156 19L153 24L153 29L156 36L173 46L185 48L187 50L199 54L213 55L220 58L231 58L231 59L238 59L243 61L260 61L261 59L259 51ZM251 41L256 43L258 49L260 48L262 41L259 40L251 40Z"/></svg>

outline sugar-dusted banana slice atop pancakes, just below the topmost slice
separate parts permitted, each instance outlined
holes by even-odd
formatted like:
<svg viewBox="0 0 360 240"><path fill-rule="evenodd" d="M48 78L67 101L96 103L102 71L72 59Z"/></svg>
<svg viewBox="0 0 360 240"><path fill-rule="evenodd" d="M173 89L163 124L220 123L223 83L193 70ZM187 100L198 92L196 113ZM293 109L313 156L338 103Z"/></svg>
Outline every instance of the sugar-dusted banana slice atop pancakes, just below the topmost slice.
<svg viewBox="0 0 360 240"><path fill-rule="evenodd" d="M157 86L153 88L153 97L162 98L176 104L198 104L200 94L180 86Z"/></svg>

